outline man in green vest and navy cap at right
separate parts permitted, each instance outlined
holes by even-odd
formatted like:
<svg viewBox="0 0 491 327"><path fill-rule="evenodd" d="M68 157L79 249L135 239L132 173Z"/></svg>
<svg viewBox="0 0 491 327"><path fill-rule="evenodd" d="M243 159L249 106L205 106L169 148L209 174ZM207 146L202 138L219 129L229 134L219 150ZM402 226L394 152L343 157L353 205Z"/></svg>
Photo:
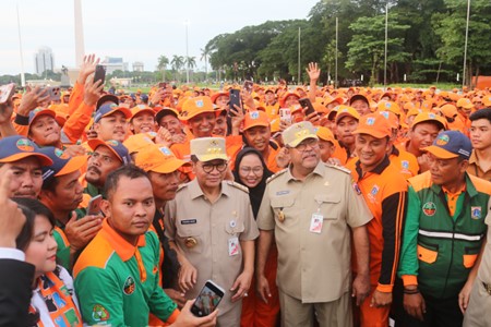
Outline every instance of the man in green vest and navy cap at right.
<svg viewBox="0 0 491 327"><path fill-rule="evenodd" d="M410 178L398 275L407 326L462 326L484 240L491 183L469 175L470 141L440 133L430 170Z"/></svg>

